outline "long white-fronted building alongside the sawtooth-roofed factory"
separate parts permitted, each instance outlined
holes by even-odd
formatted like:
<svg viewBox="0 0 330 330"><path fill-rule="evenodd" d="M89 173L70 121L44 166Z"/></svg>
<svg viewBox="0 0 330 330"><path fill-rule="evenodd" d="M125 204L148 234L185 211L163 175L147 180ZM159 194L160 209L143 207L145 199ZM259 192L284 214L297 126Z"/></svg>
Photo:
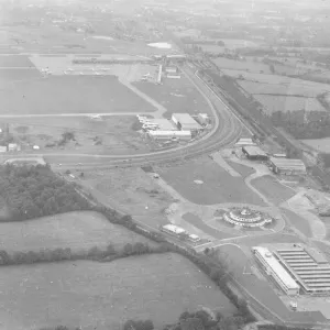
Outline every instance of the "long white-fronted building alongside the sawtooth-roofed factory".
<svg viewBox="0 0 330 330"><path fill-rule="evenodd" d="M272 276L288 296L299 295L299 285L267 248L254 246L252 251L267 275Z"/></svg>

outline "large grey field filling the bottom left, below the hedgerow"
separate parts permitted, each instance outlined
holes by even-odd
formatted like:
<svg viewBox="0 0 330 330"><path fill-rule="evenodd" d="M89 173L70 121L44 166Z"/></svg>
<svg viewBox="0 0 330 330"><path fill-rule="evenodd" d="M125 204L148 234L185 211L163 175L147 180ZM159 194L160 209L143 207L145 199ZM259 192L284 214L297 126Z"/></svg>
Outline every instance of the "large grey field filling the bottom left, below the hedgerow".
<svg viewBox="0 0 330 330"><path fill-rule="evenodd" d="M0 292L1 324L15 330L119 329L129 319L151 319L160 328L201 307L235 312L202 272L176 254L6 267Z"/></svg>

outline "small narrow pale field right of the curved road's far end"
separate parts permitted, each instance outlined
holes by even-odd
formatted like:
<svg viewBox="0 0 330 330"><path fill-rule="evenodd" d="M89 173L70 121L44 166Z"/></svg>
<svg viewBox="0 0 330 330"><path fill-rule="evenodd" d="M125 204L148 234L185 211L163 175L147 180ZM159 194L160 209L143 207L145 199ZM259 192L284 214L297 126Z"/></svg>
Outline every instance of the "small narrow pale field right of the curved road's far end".
<svg viewBox="0 0 330 330"><path fill-rule="evenodd" d="M233 68L235 70L243 70L249 73L264 73L271 74L270 66L263 63L255 63L251 59L248 61L234 61L226 57L218 57L212 59L212 62L219 68Z"/></svg>

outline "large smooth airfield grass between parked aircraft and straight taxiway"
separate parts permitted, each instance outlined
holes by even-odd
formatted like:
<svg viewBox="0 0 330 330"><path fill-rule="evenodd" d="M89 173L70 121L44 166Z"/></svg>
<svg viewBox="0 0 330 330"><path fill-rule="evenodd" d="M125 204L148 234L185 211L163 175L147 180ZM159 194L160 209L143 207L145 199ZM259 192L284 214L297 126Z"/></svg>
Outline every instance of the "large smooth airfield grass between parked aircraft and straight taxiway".
<svg viewBox="0 0 330 330"><path fill-rule="evenodd" d="M112 76L51 76L0 90L1 114L152 112L155 109Z"/></svg>

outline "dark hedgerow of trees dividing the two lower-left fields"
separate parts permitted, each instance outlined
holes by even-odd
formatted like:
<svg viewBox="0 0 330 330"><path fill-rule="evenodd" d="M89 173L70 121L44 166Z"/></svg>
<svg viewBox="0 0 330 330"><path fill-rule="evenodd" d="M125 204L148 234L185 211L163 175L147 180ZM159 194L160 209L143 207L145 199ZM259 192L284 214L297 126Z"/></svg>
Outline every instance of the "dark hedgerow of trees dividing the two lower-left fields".
<svg viewBox="0 0 330 330"><path fill-rule="evenodd" d="M141 242L125 244L121 250L116 250L111 243L106 250L101 250L97 246L92 246L86 251L73 251L69 248L58 248L54 250L44 249L40 251L14 252L12 254L9 254L4 250L0 250L0 265L21 265L77 260L111 262L131 255L166 252L168 252L168 248L165 245L161 244L160 246L151 248L148 244Z"/></svg>

